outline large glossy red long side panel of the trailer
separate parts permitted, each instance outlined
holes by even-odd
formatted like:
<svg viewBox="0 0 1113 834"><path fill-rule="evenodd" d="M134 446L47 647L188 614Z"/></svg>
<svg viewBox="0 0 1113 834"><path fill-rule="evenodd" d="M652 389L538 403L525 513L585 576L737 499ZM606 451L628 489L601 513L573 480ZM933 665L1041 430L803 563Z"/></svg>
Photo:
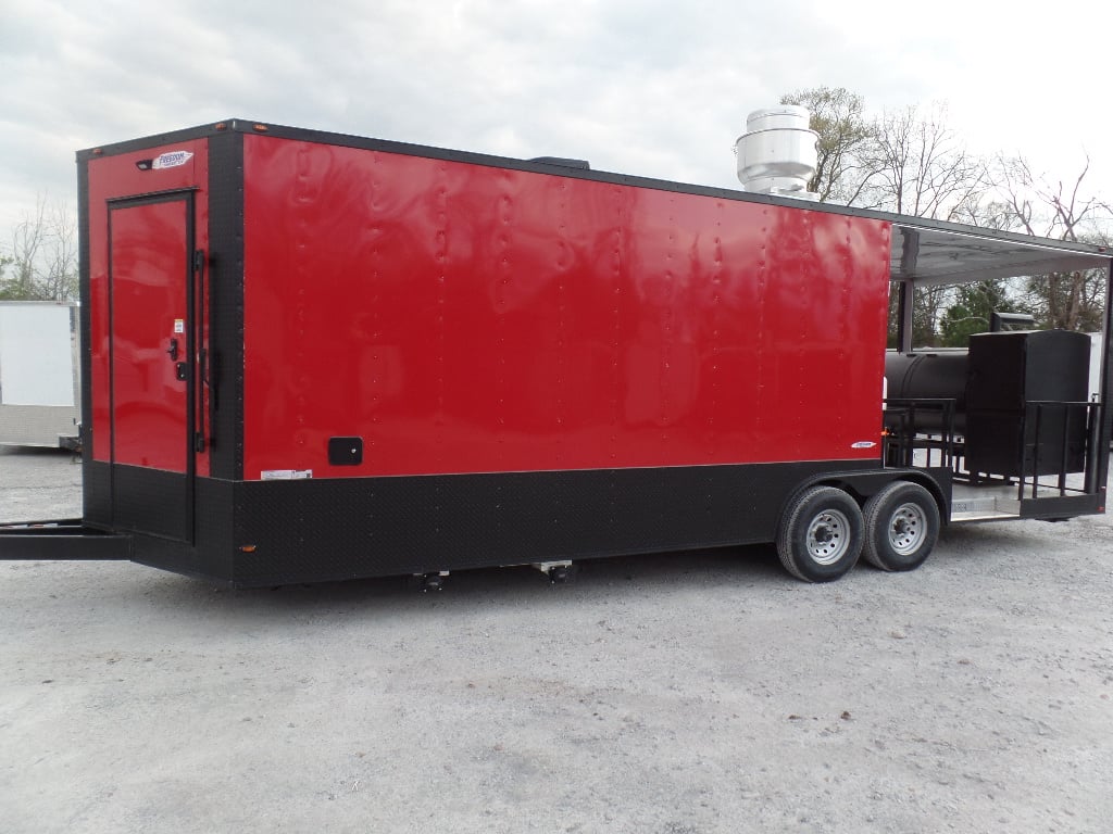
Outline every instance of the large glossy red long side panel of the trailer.
<svg viewBox="0 0 1113 834"><path fill-rule="evenodd" d="M884 221L244 148L245 478L878 457Z"/></svg>

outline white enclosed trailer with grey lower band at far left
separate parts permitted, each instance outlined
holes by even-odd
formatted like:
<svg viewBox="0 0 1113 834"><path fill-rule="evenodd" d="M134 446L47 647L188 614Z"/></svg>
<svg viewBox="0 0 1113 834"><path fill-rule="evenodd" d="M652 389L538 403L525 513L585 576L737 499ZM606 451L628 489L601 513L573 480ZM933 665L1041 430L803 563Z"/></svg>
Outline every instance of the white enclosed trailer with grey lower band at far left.
<svg viewBox="0 0 1113 834"><path fill-rule="evenodd" d="M0 445L76 446L77 322L73 304L0 301Z"/></svg>

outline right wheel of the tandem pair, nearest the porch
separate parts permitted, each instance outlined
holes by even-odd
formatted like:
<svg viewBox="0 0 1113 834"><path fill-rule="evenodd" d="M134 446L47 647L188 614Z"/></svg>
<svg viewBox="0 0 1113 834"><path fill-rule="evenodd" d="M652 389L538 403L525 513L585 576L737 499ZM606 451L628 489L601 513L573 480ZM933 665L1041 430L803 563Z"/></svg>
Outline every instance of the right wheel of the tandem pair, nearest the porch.
<svg viewBox="0 0 1113 834"><path fill-rule="evenodd" d="M866 502L863 556L881 570L914 570L939 538L939 507L919 484L897 480Z"/></svg>

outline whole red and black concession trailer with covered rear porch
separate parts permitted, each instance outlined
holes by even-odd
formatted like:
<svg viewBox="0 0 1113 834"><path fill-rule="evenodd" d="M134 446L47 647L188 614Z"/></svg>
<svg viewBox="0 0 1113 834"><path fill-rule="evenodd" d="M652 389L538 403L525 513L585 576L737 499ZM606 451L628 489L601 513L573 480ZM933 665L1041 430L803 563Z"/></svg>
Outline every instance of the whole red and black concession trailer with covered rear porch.
<svg viewBox="0 0 1113 834"><path fill-rule="evenodd" d="M263 586L776 543L827 580L1104 512L1100 403L1048 437L1022 393L1018 463L973 474L954 398L883 403L893 281L1092 247L240 120L78 170L83 517L8 558Z"/></svg>

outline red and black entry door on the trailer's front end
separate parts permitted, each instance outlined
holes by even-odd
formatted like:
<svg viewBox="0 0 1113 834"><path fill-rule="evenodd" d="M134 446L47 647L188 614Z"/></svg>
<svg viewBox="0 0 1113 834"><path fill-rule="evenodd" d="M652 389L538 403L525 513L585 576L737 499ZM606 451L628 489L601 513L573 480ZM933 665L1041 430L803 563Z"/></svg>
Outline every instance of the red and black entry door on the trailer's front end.
<svg viewBox="0 0 1113 834"><path fill-rule="evenodd" d="M193 540L194 197L109 203L112 523Z"/></svg>

